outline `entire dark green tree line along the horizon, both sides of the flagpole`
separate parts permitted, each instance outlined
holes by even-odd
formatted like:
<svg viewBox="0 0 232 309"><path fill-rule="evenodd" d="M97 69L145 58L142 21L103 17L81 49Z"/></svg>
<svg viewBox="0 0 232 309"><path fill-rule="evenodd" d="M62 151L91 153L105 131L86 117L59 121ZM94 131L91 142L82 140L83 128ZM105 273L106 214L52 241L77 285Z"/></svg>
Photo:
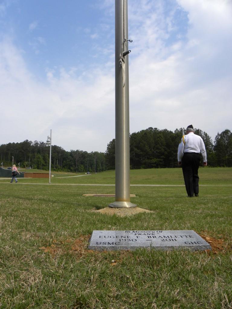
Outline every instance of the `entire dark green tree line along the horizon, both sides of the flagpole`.
<svg viewBox="0 0 232 309"><path fill-rule="evenodd" d="M232 133L225 129L217 133L214 142L201 129L195 129L205 143L208 165L211 167L232 166ZM174 132L167 129L148 128L130 134L131 169L177 167L177 148L182 137L182 128ZM1 163L14 163L20 167L49 169L50 146L44 142L28 141L0 146ZM115 139L107 145L105 153L83 150L66 151L52 146L51 167L56 171L99 172L115 169Z"/></svg>

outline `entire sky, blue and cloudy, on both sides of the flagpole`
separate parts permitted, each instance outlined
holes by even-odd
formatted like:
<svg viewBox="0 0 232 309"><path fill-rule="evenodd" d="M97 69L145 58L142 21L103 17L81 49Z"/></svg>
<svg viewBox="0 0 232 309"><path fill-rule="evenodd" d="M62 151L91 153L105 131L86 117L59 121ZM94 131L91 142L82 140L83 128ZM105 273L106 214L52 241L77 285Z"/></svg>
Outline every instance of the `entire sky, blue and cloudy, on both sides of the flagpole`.
<svg viewBox="0 0 232 309"><path fill-rule="evenodd" d="M231 1L128 0L128 32L131 133L232 130ZM113 0L2 0L0 144L105 151L114 57Z"/></svg>

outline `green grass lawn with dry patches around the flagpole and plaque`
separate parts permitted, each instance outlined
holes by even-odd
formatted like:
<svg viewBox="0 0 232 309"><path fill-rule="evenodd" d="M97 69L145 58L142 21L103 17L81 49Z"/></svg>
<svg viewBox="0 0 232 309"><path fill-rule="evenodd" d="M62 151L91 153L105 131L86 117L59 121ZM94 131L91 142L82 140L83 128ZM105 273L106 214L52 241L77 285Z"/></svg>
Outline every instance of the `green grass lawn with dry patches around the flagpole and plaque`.
<svg viewBox="0 0 232 309"><path fill-rule="evenodd" d="M153 212L122 218L82 196L114 193L114 171L52 174L0 180L1 309L232 308L232 168L200 168L191 199L181 169L132 170L131 202ZM213 251L88 250L93 230L135 229L194 230Z"/></svg>

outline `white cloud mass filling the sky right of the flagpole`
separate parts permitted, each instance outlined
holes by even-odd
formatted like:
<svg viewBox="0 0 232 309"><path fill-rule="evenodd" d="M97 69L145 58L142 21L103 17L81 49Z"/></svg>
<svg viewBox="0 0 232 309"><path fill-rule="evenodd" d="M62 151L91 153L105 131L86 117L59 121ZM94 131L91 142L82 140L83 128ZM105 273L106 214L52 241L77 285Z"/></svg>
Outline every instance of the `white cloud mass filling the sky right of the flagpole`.
<svg viewBox="0 0 232 309"><path fill-rule="evenodd" d="M165 26L161 7L154 13L153 3L146 2L141 7L146 19L137 11L132 16L130 55L137 55L130 59L131 131L193 123L214 139L217 131L231 129L231 5L178 2L188 12L187 40L170 46L165 40L171 28Z"/></svg>

